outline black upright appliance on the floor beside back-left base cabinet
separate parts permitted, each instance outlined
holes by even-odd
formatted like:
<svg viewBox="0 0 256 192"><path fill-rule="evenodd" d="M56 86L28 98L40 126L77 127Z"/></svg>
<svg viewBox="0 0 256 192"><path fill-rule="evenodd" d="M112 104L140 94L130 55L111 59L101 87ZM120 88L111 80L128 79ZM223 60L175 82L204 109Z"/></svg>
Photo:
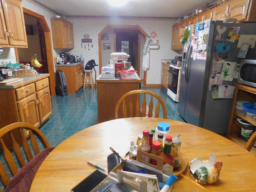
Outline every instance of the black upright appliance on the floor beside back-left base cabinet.
<svg viewBox="0 0 256 192"><path fill-rule="evenodd" d="M55 92L58 96L64 96L68 94L67 82L65 74L62 70L56 70L56 86Z"/></svg>

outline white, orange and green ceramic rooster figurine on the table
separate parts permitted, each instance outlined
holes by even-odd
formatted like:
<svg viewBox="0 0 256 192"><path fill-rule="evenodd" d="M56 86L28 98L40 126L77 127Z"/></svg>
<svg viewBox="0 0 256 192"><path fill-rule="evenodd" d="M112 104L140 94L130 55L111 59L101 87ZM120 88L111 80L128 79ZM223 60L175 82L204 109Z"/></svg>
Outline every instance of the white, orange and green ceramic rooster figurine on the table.
<svg viewBox="0 0 256 192"><path fill-rule="evenodd" d="M214 184L220 176L222 162L216 161L215 154L210 154L208 158L207 161L194 158L190 162L190 176L200 184Z"/></svg>

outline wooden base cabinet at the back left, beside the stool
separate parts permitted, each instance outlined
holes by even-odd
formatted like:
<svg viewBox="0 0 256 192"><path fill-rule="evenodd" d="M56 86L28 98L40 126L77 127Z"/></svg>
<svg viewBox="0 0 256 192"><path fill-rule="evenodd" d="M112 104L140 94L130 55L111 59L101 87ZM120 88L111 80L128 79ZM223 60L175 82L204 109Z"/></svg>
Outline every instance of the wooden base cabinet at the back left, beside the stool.
<svg viewBox="0 0 256 192"><path fill-rule="evenodd" d="M55 68L64 72L69 94L75 94L84 86L84 63L56 64Z"/></svg>

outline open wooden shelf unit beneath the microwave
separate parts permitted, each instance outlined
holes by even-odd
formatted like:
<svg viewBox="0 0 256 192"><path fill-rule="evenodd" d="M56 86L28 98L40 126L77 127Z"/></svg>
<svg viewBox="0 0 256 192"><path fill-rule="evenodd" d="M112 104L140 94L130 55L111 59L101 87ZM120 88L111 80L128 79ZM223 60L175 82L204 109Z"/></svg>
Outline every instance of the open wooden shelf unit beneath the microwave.
<svg viewBox="0 0 256 192"><path fill-rule="evenodd" d="M234 120L236 118L242 118L249 122L250 124L253 124L256 126L256 121L252 121L246 116L240 115L236 113L236 101L248 101L254 103L256 101L256 88L242 85L235 83L236 86L235 92L234 92L234 99L233 99L233 106L232 106L232 111L230 115L230 120L229 120L229 126L228 126L228 132L227 132L227 138L230 140L236 142L240 146L244 147L246 145L246 140L240 135L241 133L241 126L239 124L236 124ZM247 138L248 140L248 138ZM252 147L251 152L256 155L256 148Z"/></svg>

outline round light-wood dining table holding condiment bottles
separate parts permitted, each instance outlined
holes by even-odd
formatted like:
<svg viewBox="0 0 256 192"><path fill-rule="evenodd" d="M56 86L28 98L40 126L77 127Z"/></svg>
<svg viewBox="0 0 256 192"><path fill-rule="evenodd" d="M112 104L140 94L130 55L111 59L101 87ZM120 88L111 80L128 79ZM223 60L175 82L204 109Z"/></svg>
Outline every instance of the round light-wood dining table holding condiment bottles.
<svg viewBox="0 0 256 192"><path fill-rule="evenodd" d="M156 128L159 122L170 124L170 135L180 134L181 152L186 154L188 165L172 186L172 192L230 192L256 191L256 156L231 140L214 132L162 118L121 118L90 126L70 136L44 160L32 182L30 192L70 192L95 168L88 160L107 168L107 156L114 148L125 156L131 140L136 142L144 129ZM209 154L216 154L223 162L219 180L215 184L198 184L189 172L194 158L208 160Z"/></svg>

